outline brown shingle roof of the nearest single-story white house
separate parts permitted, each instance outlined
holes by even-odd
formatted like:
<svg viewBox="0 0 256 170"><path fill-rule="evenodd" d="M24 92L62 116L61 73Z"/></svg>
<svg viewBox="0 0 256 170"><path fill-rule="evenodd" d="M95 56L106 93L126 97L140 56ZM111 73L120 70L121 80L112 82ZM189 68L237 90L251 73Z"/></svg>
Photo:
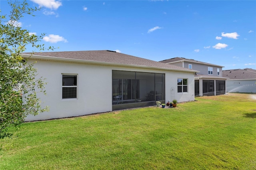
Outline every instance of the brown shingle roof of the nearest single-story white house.
<svg viewBox="0 0 256 170"><path fill-rule="evenodd" d="M23 57L28 57L30 53L22 53ZM61 51L61 52L36 52L33 54L32 58L42 59L42 57L47 57L47 59L58 60L65 59L75 59L79 61L94 61L106 64L121 64L121 65L136 65L136 66L146 66L146 67L155 67L161 69L172 69L172 70L181 70L189 72L197 72L194 70L178 67L175 65L170 65L166 63L161 63L149 59L144 59L140 57L135 57L132 55L127 55L123 53L118 53L116 51L109 50L96 50L96 51Z"/></svg>

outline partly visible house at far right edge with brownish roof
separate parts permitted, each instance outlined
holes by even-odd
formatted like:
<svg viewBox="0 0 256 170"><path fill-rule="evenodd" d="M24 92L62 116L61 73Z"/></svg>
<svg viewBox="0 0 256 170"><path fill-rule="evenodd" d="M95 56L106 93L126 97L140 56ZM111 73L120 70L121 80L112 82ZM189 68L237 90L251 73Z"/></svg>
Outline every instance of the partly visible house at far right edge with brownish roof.
<svg viewBox="0 0 256 170"><path fill-rule="evenodd" d="M227 92L256 93L255 69L223 70L222 75L229 78L226 82Z"/></svg>

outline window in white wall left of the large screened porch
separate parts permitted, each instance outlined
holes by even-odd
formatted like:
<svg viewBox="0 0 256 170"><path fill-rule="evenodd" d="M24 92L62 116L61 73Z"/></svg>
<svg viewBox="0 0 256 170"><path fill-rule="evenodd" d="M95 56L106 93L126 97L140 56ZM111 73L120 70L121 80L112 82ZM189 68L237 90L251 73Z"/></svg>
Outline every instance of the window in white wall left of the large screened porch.
<svg viewBox="0 0 256 170"><path fill-rule="evenodd" d="M62 99L77 98L77 75L62 74Z"/></svg>

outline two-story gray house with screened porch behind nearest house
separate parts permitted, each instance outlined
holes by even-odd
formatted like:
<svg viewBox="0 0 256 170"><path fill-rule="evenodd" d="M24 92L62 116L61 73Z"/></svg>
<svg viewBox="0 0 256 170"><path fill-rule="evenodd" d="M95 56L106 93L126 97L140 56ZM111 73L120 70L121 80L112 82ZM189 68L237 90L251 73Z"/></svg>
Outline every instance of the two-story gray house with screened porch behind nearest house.
<svg viewBox="0 0 256 170"><path fill-rule="evenodd" d="M166 59L160 62L199 71L199 73L195 73L194 76L195 96L226 94L226 79L228 78L222 77L223 66L182 57ZM184 91L179 90L178 93L180 92Z"/></svg>

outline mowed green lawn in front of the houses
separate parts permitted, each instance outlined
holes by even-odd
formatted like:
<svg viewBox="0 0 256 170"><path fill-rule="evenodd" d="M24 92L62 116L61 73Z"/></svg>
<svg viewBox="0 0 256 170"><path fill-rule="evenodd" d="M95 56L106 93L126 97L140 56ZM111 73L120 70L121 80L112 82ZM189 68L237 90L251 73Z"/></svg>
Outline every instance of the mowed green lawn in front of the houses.
<svg viewBox="0 0 256 170"><path fill-rule="evenodd" d="M24 123L0 169L256 169L255 95Z"/></svg>

